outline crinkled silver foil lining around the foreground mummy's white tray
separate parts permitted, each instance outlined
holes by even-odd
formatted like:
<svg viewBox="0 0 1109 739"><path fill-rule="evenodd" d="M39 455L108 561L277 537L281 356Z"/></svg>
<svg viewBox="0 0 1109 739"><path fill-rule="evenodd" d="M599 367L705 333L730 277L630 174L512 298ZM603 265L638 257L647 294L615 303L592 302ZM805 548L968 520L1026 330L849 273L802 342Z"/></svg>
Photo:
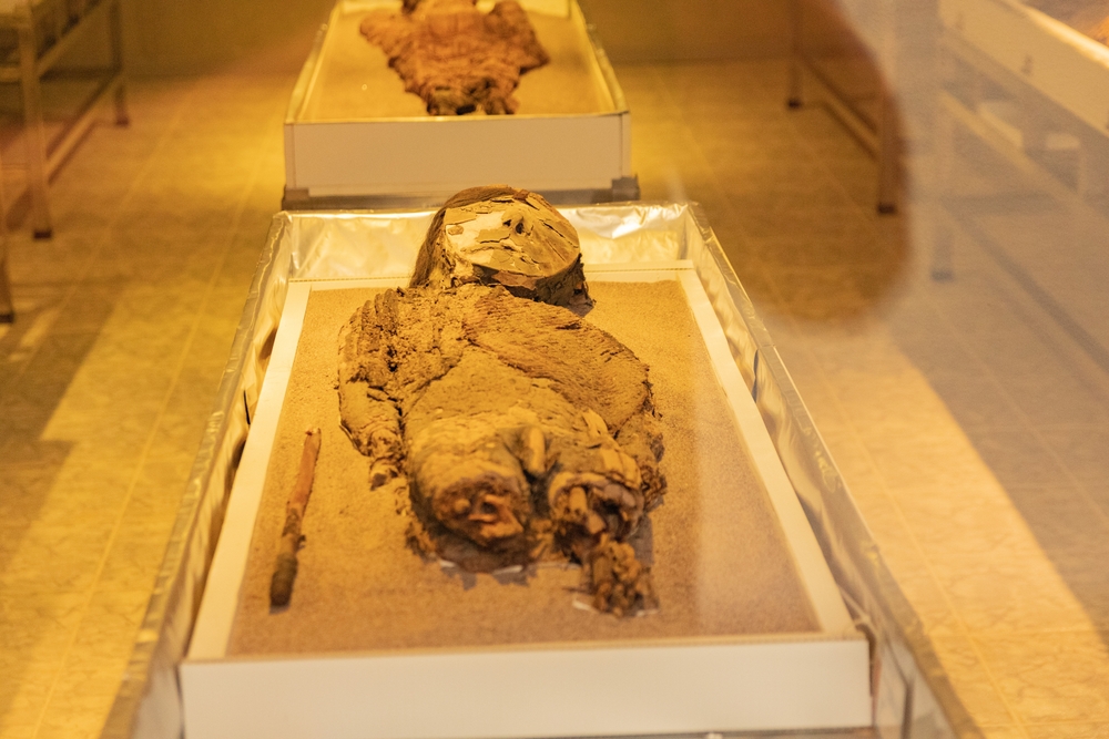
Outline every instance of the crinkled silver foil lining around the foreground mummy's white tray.
<svg viewBox="0 0 1109 739"><path fill-rule="evenodd" d="M877 733L889 739L976 736L701 208L631 203L561 211L578 228L586 264L693 263L844 601L871 639ZM187 650L289 280L406 276L431 215L274 216L103 739L182 736L176 666Z"/></svg>

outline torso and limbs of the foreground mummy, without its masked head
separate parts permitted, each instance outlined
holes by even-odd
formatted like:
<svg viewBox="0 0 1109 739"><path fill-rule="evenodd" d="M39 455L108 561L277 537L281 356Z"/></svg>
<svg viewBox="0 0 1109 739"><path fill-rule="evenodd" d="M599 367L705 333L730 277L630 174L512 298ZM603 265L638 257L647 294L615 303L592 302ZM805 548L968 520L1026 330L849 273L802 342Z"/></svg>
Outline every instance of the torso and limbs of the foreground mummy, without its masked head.
<svg viewBox="0 0 1109 739"><path fill-rule="evenodd" d="M654 604L662 437L627 347L477 284L384 292L339 343L343 424L370 486L399 490L420 552L472 572L573 560L599 610Z"/></svg>

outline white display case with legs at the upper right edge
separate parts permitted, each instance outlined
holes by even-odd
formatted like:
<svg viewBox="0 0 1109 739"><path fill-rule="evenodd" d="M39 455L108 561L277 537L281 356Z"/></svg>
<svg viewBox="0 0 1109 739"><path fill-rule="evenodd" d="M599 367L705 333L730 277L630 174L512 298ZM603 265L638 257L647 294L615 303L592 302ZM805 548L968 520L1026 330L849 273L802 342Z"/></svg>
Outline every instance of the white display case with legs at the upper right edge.
<svg viewBox="0 0 1109 739"><path fill-rule="evenodd" d="M1035 187L1107 212L1109 48L1016 1L944 0L940 18L940 182L958 129Z"/></svg>

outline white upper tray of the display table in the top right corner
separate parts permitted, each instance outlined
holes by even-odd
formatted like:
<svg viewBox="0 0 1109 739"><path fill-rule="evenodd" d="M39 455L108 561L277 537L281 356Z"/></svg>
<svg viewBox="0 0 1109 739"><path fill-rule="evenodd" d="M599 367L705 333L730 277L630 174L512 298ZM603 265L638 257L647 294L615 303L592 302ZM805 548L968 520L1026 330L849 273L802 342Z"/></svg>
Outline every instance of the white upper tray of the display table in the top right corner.
<svg viewBox="0 0 1109 739"><path fill-rule="evenodd" d="M1018 0L939 0L956 38L1095 130L1109 126L1109 48Z"/></svg>

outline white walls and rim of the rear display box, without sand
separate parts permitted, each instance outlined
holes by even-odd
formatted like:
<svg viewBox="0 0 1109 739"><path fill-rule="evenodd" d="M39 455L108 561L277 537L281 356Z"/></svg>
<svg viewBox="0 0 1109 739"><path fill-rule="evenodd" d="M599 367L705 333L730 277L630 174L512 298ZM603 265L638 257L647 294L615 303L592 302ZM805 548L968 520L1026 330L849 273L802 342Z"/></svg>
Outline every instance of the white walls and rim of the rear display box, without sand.
<svg viewBox="0 0 1109 739"><path fill-rule="evenodd" d="M377 2L358 3L360 8ZM285 119L285 207L406 206L441 203L475 182L506 182L554 202L635 199L631 115L611 65L574 0L530 0L560 8L593 49L590 83L611 100L580 115L421 116L308 121L332 39L356 33L342 0L316 40ZM380 74L395 72L383 66ZM537 144L538 142L538 144ZM506 154L510 153L510 155Z"/></svg>

